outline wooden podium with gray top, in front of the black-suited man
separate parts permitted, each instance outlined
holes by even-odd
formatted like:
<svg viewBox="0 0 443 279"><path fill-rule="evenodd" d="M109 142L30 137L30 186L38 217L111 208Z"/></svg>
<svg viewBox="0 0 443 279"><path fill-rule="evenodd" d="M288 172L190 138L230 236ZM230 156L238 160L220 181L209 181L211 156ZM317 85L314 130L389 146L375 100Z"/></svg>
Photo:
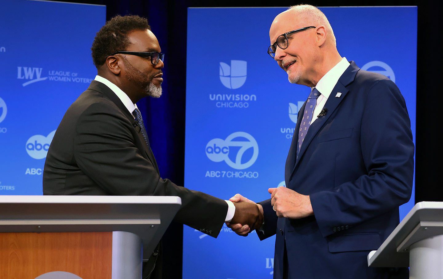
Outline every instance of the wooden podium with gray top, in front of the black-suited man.
<svg viewBox="0 0 443 279"><path fill-rule="evenodd" d="M0 196L0 278L140 279L180 205L163 196Z"/></svg>

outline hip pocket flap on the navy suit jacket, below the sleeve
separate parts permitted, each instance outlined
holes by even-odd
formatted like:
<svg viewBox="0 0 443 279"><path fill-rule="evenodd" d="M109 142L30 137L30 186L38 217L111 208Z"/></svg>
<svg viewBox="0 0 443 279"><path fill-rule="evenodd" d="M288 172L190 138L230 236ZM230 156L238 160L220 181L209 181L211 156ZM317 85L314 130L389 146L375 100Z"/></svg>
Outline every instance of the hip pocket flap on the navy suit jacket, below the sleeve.
<svg viewBox="0 0 443 279"><path fill-rule="evenodd" d="M378 233L337 236L328 241L329 252L377 250L381 245Z"/></svg>

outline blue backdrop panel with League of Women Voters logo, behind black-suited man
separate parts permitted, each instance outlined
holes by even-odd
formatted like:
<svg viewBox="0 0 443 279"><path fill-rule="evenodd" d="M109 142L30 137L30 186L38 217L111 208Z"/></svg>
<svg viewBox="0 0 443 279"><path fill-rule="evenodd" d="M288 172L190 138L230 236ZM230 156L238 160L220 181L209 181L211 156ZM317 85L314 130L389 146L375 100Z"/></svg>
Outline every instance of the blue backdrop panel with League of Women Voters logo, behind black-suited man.
<svg viewBox="0 0 443 279"><path fill-rule="evenodd" d="M105 6L6 1L0 9L0 194L42 194L47 148L95 77Z"/></svg>

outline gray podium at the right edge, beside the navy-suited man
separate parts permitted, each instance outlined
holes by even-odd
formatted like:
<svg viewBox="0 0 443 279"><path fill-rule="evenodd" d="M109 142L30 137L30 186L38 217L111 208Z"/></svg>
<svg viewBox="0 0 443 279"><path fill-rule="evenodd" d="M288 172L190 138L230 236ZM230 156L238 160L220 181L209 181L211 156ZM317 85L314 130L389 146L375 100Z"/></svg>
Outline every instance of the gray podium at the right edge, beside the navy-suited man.
<svg viewBox="0 0 443 279"><path fill-rule="evenodd" d="M409 267L410 279L443 279L443 202L419 202L377 251L369 267Z"/></svg>

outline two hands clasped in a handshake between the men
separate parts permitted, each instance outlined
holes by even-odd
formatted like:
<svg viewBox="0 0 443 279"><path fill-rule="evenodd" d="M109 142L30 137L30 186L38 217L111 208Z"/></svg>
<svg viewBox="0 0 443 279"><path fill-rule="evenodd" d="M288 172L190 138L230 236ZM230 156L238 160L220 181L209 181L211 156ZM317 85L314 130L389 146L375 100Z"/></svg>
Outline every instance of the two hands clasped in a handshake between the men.
<svg viewBox="0 0 443 279"><path fill-rule="evenodd" d="M254 229L263 224L263 207L240 194L236 194L229 201L235 205L235 214L226 225L241 236L248 236Z"/></svg>

